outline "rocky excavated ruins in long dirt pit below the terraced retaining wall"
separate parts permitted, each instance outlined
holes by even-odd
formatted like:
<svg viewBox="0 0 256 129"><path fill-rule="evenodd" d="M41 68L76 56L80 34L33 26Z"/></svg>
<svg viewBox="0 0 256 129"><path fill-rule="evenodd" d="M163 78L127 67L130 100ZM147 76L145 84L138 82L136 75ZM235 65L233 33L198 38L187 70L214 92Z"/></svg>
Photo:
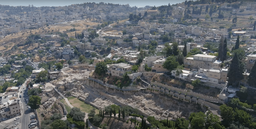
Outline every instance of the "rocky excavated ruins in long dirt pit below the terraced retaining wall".
<svg viewBox="0 0 256 129"><path fill-rule="evenodd" d="M121 106L129 105L132 108L140 110L142 115L155 116L157 119L166 119L167 117L174 119L177 117L188 118L190 112L204 111L197 104L179 101L171 97L147 93L145 91L124 95L121 92L108 92L102 88L94 88L93 85L87 86L87 81L89 81L87 78L90 72L84 71L81 73L68 68L62 71L63 74L66 73L65 75L62 74L62 77L51 83L56 88L61 89L63 94L71 91L71 95L98 109L111 104Z"/></svg>

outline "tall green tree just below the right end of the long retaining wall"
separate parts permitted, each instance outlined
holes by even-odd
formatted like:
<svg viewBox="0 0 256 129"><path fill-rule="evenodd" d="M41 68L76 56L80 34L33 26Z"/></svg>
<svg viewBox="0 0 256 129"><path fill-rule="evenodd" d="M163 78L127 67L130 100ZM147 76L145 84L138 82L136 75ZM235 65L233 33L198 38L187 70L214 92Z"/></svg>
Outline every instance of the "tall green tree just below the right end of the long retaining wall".
<svg viewBox="0 0 256 129"><path fill-rule="evenodd" d="M222 124L228 127L234 120L233 109L225 104L221 105L219 109L221 110L221 118L223 119Z"/></svg>

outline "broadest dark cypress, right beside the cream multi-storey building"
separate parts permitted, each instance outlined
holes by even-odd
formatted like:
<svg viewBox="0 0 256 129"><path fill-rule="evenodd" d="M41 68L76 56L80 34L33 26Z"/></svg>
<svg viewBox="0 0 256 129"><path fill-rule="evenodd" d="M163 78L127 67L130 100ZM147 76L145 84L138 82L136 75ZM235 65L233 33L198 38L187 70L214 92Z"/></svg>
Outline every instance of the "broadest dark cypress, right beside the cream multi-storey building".
<svg viewBox="0 0 256 129"><path fill-rule="evenodd" d="M234 85L234 82L238 82L243 79L243 69L241 69L241 63L238 60L237 53L235 53L228 72L228 82Z"/></svg>

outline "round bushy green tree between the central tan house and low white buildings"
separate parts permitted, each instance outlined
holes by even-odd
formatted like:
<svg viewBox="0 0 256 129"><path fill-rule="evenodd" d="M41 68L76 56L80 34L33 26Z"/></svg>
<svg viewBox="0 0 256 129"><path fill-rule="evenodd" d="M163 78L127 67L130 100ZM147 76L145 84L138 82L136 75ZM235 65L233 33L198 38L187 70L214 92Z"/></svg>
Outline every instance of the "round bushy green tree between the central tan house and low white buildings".
<svg viewBox="0 0 256 129"><path fill-rule="evenodd" d="M179 66L179 62L176 61L176 57L169 56L166 58L166 61L163 63L163 68L168 69L169 71L172 71Z"/></svg>

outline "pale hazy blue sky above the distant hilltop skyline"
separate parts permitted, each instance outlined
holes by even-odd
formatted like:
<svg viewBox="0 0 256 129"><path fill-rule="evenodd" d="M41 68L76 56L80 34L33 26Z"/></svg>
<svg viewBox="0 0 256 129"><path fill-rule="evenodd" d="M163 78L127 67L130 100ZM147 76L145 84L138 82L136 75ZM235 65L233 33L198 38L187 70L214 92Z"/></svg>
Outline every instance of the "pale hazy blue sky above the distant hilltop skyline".
<svg viewBox="0 0 256 129"><path fill-rule="evenodd" d="M87 3L87 2L104 2L104 3L113 3L113 4L129 4L132 6L137 7L145 7L147 5L149 6L161 6L161 5L168 5L169 3L176 4L176 3L182 3L185 0L42 0L42 1L35 1L35 0L1 0L1 5L10 5L10 6L28 6L29 4L35 7L41 7L41 6L68 6L71 4L81 4L81 3Z"/></svg>

